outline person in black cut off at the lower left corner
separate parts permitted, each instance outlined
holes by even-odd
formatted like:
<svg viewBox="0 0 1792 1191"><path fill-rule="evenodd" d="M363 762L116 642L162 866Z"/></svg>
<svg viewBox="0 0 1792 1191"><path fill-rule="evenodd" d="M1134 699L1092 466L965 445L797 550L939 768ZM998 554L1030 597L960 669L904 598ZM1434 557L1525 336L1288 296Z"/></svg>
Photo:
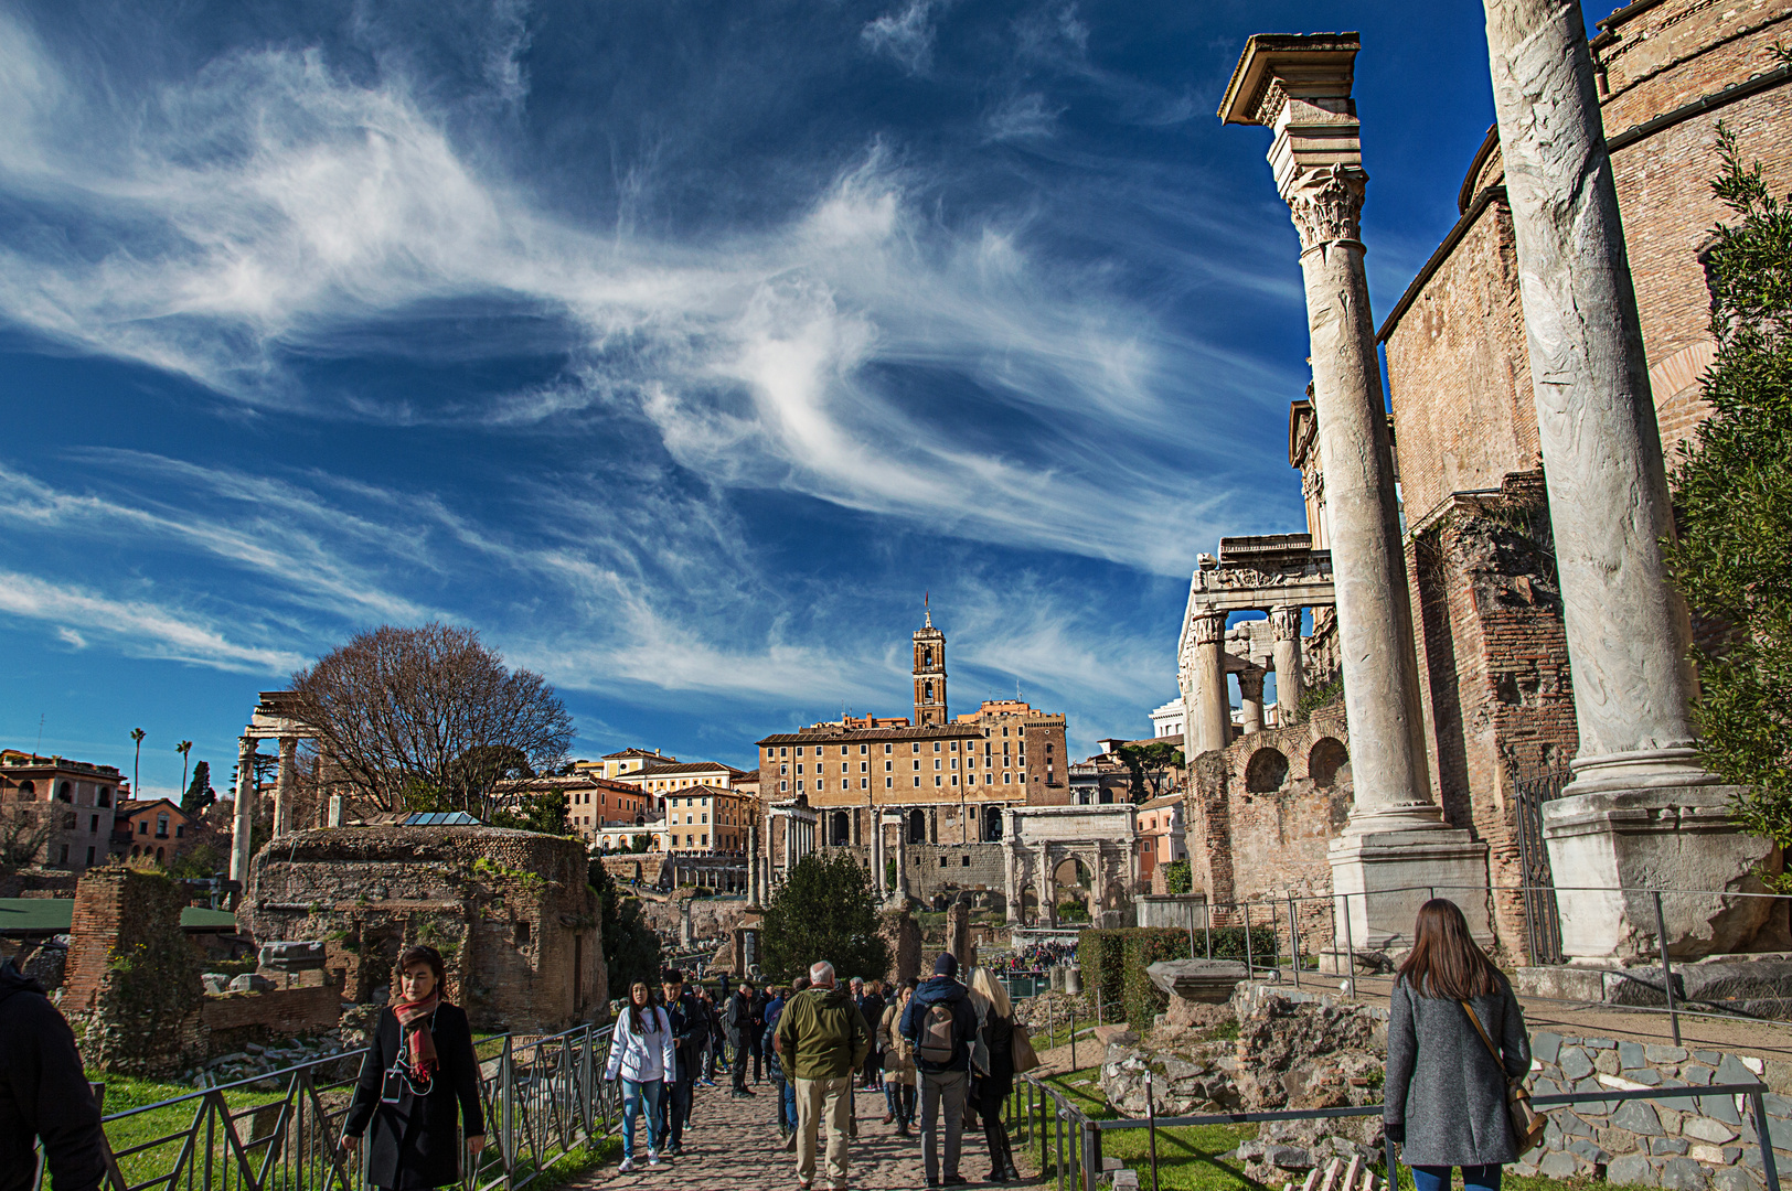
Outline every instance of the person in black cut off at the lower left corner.
<svg viewBox="0 0 1792 1191"><path fill-rule="evenodd" d="M43 985L0 964L0 1191L25 1191L38 1139L56 1191L93 1191L106 1178L106 1139L75 1035Z"/></svg>

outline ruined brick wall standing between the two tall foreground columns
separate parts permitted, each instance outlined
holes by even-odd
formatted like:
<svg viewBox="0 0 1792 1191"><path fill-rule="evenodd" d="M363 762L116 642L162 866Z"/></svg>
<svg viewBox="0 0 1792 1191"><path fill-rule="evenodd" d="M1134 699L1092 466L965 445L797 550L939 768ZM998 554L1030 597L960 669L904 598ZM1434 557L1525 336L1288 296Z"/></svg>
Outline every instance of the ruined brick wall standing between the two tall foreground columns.
<svg viewBox="0 0 1792 1191"><path fill-rule="evenodd" d="M1487 844L1495 885L1525 883L1514 779L1577 749L1573 688L1543 475L1455 496L1407 543L1432 790ZM1498 946L1529 962L1523 897L1493 895Z"/></svg>

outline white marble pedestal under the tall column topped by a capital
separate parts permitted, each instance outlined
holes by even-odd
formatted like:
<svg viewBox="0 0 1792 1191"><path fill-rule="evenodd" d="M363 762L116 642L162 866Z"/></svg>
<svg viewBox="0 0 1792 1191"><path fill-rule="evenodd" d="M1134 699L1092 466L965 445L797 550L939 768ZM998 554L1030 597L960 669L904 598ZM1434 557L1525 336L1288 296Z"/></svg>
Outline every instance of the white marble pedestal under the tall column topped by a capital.
<svg viewBox="0 0 1792 1191"><path fill-rule="evenodd" d="M1468 831L1441 824L1410 831L1346 831L1331 840L1328 860L1340 949L1348 940L1357 949L1405 951L1412 946L1419 906L1434 895L1462 906L1475 940L1493 944L1487 845Z"/></svg>

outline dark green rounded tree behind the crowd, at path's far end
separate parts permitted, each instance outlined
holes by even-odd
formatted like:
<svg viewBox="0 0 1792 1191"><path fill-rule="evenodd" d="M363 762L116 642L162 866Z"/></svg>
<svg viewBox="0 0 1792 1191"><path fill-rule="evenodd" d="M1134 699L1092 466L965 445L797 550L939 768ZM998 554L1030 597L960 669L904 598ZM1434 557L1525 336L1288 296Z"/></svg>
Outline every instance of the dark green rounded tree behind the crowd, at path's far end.
<svg viewBox="0 0 1792 1191"><path fill-rule="evenodd" d="M878 937L878 894L871 874L846 851L810 853L765 906L760 933L767 980L792 980L828 960L840 980L889 971Z"/></svg>

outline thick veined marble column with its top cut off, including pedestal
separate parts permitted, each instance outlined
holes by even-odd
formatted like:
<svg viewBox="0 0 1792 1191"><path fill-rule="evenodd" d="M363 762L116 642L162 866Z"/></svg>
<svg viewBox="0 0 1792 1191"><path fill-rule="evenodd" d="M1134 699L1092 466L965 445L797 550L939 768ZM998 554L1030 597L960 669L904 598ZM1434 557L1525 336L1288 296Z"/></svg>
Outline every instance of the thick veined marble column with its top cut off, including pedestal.
<svg viewBox="0 0 1792 1191"><path fill-rule="evenodd" d="M1674 512L1581 5L1484 7L1581 731L1566 797L1543 815L1550 861L1573 885L1641 887L1667 872L1681 888L1735 888L1770 849L1727 827L1731 792L1693 740L1692 632L1661 555ZM1570 956L1652 946L1652 899L1559 899ZM1668 901L1670 949L1736 942L1765 915Z"/></svg>

